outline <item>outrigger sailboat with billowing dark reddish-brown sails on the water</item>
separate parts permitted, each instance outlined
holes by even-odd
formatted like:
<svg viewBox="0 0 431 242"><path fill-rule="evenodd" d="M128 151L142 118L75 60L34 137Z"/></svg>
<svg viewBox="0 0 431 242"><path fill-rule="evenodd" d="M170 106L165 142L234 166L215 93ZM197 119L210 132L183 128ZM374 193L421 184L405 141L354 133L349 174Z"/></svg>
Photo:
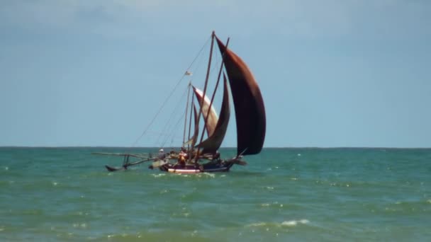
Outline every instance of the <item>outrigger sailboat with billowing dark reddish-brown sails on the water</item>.
<svg viewBox="0 0 431 242"><path fill-rule="evenodd" d="M208 97L208 76L213 54L214 42L218 45L222 62L218 72L218 79L211 98ZM247 164L242 160L243 156L259 154L265 139L266 115L262 93L257 81L254 79L247 64L228 48L213 32L211 34L211 50L208 60L208 70L203 90L189 84L193 90L194 98L190 104L189 139L181 145L179 153L172 152L163 158L152 158L148 156L138 157L140 161L128 162L129 154L117 154L124 156L124 163L121 168L106 166L108 171L118 171L127 169L138 163L153 161L150 168L159 168L160 171L169 173L203 173L203 172L225 172L237 165ZM217 91L220 77L223 73L223 98L220 113L216 113L213 106L215 91ZM186 71L186 74L187 73ZM225 138L230 121L230 96L233 98L235 110L237 151L236 155L230 159L221 159L218 150ZM189 100L188 100L189 103ZM187 105L189 107L189 104ZM187 113L187 111L186 111ZM187 115L185 115L187 116ZM204 121L200 128L201 117ZM193 124L193 127L192 127ZM185 133L185 129L184 129ZM203 139L206 133L206 139Z"/></svg>

